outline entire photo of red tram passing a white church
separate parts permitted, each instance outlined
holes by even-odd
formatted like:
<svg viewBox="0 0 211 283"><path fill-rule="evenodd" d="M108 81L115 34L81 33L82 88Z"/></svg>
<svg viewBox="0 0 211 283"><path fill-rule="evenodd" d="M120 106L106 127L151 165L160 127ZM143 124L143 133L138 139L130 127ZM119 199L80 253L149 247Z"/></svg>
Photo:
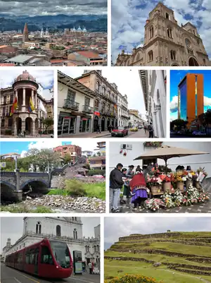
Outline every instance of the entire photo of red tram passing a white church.
<svg viewBox="0 0 211 283"><path fill-rule="evenodd" d="M38 276L39 283L46 277L53 282L100 282L100 217L10 217L10 224L1 219L1 231L4 281L37 282Z"/></svg>

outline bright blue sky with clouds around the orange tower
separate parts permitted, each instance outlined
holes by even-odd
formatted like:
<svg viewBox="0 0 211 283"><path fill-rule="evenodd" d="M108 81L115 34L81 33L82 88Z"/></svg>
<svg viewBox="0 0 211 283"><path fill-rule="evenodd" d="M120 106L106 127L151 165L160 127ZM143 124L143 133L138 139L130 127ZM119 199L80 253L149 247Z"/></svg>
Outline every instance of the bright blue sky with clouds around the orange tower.
<svg viewBox="0 0 211 283"><path fill-rule="evenodd" d="M211 109L211 92L210 92L210 78L211 78L211 71L205 70L173 70L170 72L170 119L175 120L177 119L178 115L178 89L177 86L179 82L186 73L201 73L204 76L204 111L206 112L207 109Z"/></svg>

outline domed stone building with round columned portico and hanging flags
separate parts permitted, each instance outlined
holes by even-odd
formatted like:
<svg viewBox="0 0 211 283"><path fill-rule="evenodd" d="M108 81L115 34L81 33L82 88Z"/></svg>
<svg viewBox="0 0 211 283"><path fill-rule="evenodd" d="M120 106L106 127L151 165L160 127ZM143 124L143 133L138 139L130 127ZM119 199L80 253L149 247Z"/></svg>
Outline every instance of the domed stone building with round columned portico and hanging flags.
<svg viewBox="0 0 211 283"><path fill-rule="evenodd" d="M11 87L0 90L2 135L17 136L25 131L28 136L37 136L38 131L43 130L41 119L46 118L46 107L51 108L53 116L53 98L45 100L39 95L39 89L36 79L23 71ZM15 100L17 107L11 113Z"/></svg>

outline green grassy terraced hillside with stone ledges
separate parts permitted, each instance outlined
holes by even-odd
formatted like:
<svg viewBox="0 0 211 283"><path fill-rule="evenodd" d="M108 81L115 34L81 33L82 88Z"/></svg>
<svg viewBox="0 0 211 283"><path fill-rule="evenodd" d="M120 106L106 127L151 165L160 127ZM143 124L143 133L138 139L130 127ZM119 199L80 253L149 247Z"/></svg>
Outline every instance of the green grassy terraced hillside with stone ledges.
<svg viewBox="0 0 211 283"><path fill-rule="evenodd" d="M125 236L105 251L104 263L110 283L125 274L163 283L210 283L211 231Z"/></svg>

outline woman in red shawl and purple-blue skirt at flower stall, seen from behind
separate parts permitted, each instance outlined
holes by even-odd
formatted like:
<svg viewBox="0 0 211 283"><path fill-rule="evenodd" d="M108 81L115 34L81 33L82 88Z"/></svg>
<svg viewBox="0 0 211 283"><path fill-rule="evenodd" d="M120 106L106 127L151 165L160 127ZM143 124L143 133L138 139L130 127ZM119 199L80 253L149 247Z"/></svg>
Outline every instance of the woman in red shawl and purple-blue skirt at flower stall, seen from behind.
<svg viewBox="0 0 211 283"><path fill-rule="evenodd" d="M130 181L129 186L132 190L131 203L134 203L134 210L137 210L138 208L141 209L141 205L143 205L144 201L148 198L146 180L143 173L141 173L141 170L136 171L136 175Z"/></svg>

